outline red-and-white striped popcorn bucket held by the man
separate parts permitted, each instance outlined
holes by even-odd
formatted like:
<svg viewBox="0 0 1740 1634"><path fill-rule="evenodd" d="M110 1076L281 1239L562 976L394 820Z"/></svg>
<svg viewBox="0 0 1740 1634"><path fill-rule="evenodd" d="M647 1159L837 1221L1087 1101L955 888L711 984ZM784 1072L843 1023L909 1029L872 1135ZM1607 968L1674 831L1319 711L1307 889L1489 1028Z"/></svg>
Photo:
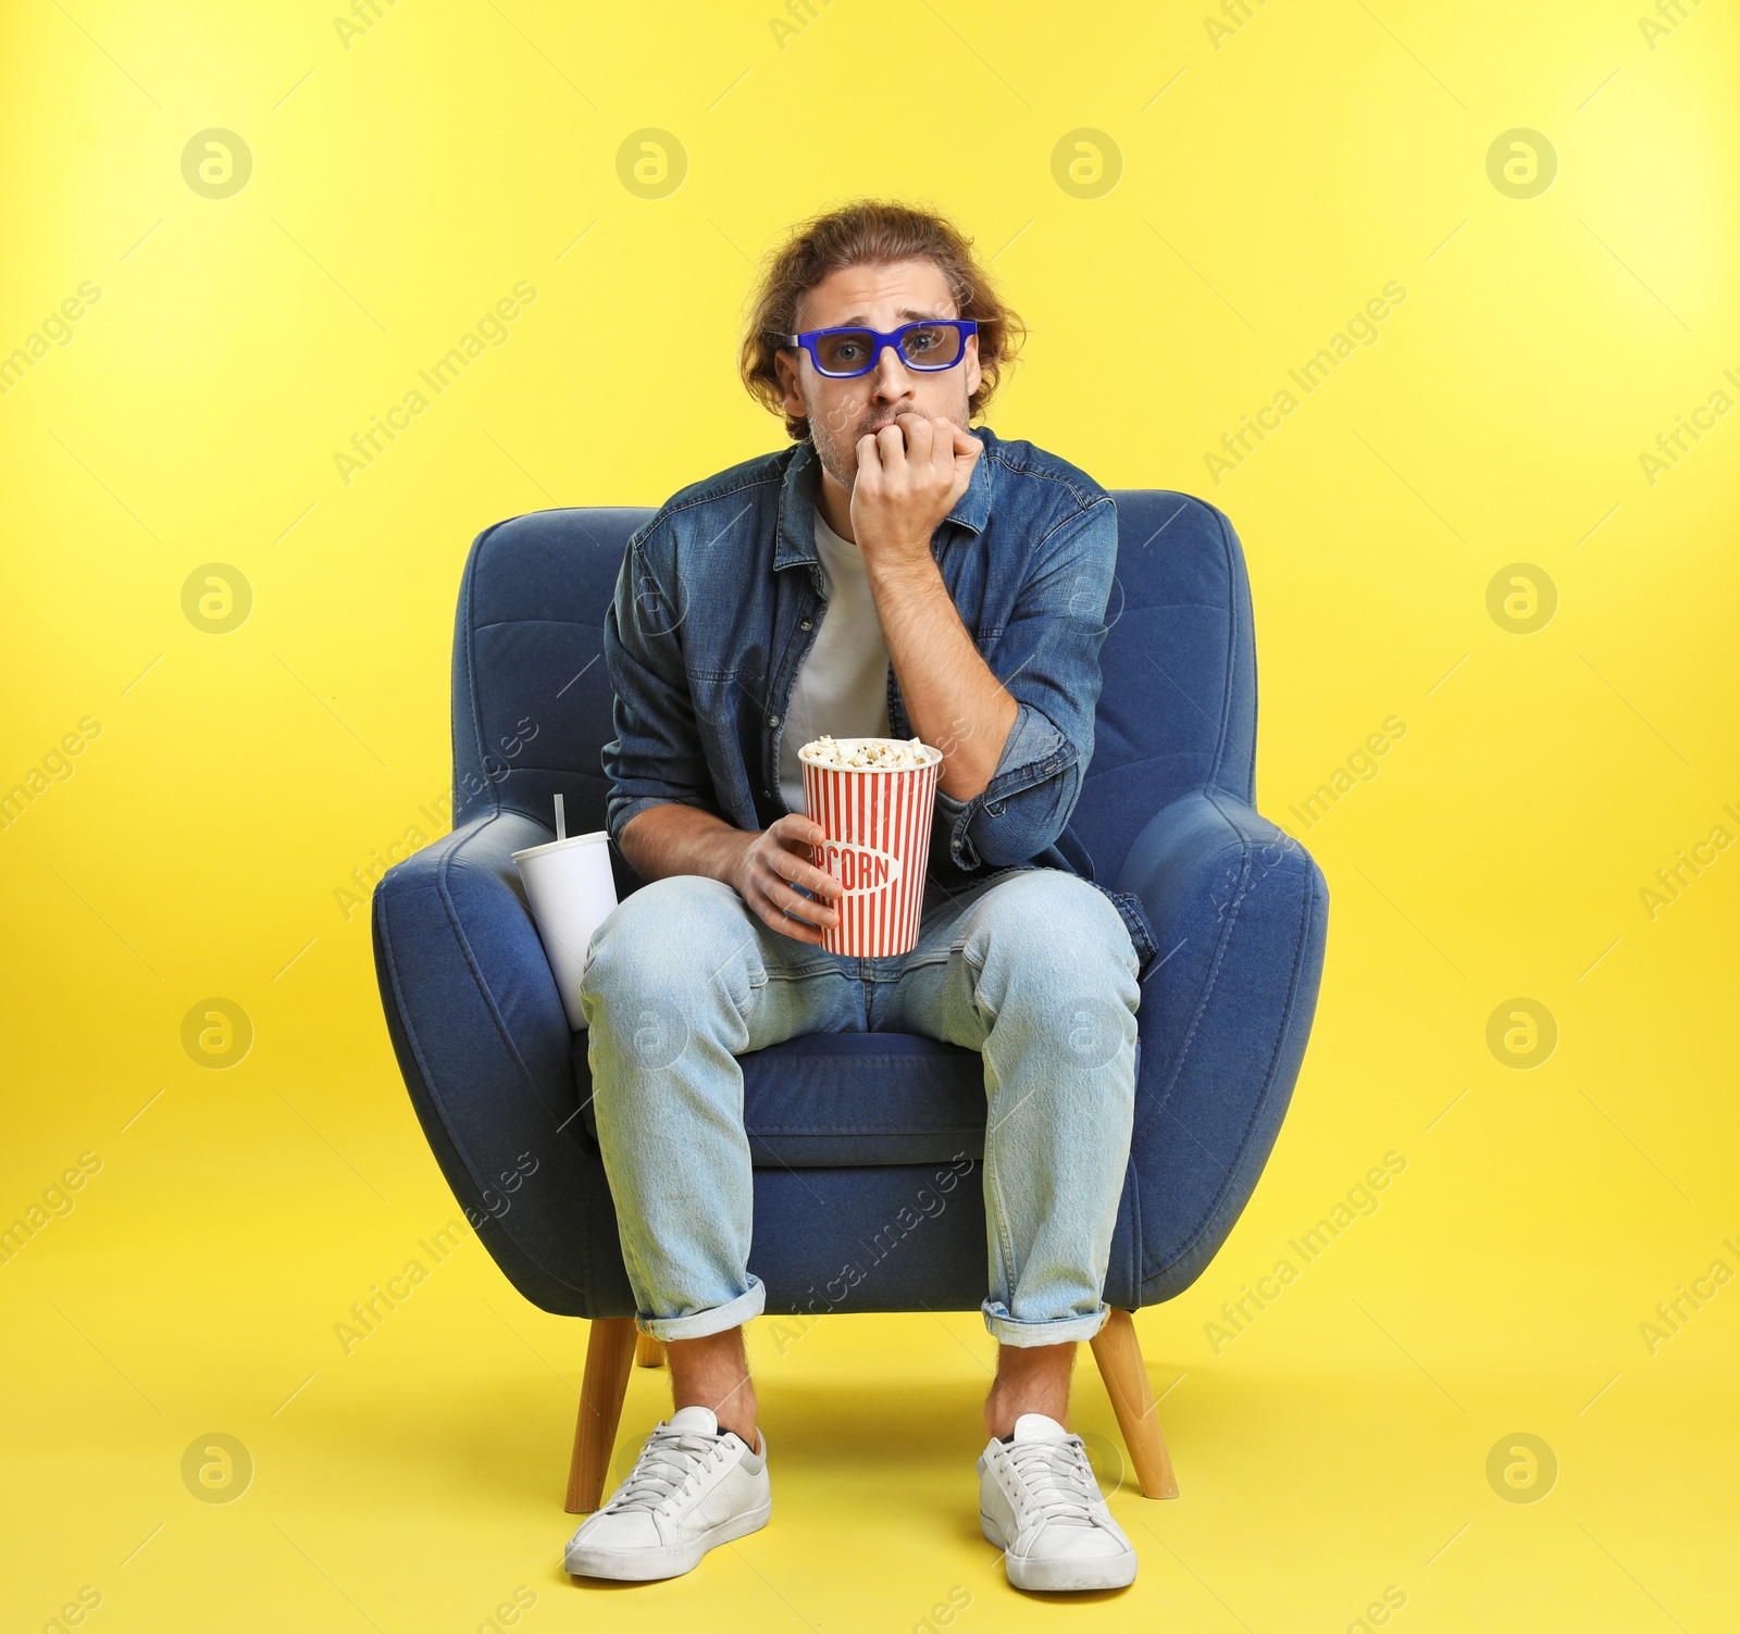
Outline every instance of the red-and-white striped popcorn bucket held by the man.
<svg viewBox="0 0 1740 1634"><path fill-rule="evenodd" d="M842 738L839 747L873 741ZM830 954L886 959L910 954L924 912L924 863L931 847L931 809L943 752L907 771L844 771L804 762L804 802L826 840L811 860L840 882L840 922L823 933Z"/></svg>

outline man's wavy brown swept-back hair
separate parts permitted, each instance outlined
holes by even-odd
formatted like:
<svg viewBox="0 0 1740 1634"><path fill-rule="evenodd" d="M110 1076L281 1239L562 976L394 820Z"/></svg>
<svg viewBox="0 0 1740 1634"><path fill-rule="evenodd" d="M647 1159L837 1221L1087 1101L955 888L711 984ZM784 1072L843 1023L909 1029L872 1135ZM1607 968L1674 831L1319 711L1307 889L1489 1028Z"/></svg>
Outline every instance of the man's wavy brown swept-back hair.
<svg viewBox="0 0 1740 1634"><path fill-rule="evenodd" d="M894 261L933 261L948 280L959 315L978 320L980 386L967 398L969 419L985 412L1002 371L1014 362L1027 329L974 259L973 240L934 211L891 198L854 200L800 223L767 258L743 331L738 353L743 385L750 397L785 416L786 435L795 442L809 440L809 419L785 411L773 362L780 336L797 332L804 296L828 273Z"/></svg>

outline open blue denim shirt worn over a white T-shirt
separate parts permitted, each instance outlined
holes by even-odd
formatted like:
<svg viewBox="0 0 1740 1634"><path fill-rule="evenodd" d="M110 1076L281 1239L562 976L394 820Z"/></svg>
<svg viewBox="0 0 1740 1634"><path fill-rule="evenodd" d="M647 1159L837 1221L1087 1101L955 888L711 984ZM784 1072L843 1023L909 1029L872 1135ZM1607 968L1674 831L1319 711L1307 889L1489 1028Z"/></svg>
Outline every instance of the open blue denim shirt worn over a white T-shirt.
<svg viewBox="0 0 1740 1634"><path fill-rule="evenodd" d="M988 426L973 435L985 452L931 555L1016 717L978 795L938 790L927 889L1018 867L1075 874L1112 900L1145 973L1155 941L1140 900L1093 879L1068 827L1093 755L1117 508L1068 461ZM746 830L785 814L780 734L826 609L820 475L814 445L799 442L680 489L630 538L604 621L618 846L649 806L698 806ZM915 736L893 665L887 717L893 736Z"/></svg>

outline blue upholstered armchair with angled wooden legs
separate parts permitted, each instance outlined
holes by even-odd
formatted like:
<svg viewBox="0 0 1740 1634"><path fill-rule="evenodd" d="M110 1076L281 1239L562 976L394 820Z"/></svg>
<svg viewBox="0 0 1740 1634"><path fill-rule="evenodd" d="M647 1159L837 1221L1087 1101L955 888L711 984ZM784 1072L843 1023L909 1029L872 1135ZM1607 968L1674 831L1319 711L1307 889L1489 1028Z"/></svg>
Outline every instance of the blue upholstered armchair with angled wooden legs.
<svg viewBox="0 0 1740 1634"><path fill-rule="evenodd" d="M1093 764L1072 820L1096 877L1134 891L1159 957L1141 988L1136 1121L1094 1340L1136 1476L1176 1491L1128 1312L1208 1267L1274 1147L1322 974L1328 889L1255 809L1256 653L1239 539L1183 494L1115 496L1119 562ZM508 1281L588 1317L567 1507L597 1507L635 1352L569 1032L510 853L604 827L602 618L651 512L548 510L478 534L452 656L454 827L374 893L393 1049L442 1173ZM612 849L618 893L639 884ZM743 1058L750 1267L767 1312L978 1310L980 1056L908 1034L826 1034ZM929 1201L926 1201L929 1199ZM856 1276L853 1274L856 1269ZM658 1361L656 1342L642 1361Z"/></svg>

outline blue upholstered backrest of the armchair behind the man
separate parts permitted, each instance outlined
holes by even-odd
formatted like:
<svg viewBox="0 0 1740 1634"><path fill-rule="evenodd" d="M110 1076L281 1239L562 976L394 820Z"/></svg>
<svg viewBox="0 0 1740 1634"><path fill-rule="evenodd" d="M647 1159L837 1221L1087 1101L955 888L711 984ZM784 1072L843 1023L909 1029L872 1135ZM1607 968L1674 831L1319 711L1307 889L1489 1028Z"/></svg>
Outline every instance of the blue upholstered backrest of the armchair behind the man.
<svg viewBox="0 0 1740 1634"><path fill-rule="evenodd" d="M1256 654L1244 553L1211 505L1119 489L1117 583L1093 764L1072 827L1101 881L1161 806L1216 787L1255 802ZM454 827L520 811L604 827L614 736L604 613L647 508L543 510L478 534L454 623ZM618 889L633 879L618 870Z"/></svg>

